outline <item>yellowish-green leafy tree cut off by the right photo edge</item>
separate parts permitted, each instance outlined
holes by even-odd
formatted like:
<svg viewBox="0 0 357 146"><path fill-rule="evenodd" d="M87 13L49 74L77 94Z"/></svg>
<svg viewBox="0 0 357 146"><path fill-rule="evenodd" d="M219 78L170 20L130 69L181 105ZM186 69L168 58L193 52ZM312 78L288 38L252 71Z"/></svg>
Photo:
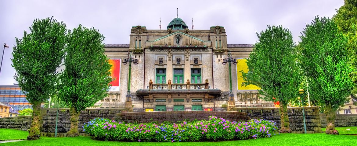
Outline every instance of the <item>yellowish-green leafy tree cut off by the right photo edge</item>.
<svg viewBox="0 0 357 146"><path fill-rule="evenodd" d="M335 20L339 30L348 36L348 63L352 69L350 78L354 83L351 97L357 100L357 0L345 0L345 5L337 10L337 14L332 19Z"/></svg>

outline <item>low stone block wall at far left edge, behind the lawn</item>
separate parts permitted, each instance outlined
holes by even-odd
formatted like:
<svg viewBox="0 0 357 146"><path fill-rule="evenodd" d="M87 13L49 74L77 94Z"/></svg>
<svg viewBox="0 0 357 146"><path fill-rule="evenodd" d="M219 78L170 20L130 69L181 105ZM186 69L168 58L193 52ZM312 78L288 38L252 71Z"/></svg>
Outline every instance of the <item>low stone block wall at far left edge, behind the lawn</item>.
<svg viewBox="0 0 357 146"><path fill-rule="evenodd" d="M0 128L9 128L26 131L31 127L31 116L12 116L0 118Z"/></svg>

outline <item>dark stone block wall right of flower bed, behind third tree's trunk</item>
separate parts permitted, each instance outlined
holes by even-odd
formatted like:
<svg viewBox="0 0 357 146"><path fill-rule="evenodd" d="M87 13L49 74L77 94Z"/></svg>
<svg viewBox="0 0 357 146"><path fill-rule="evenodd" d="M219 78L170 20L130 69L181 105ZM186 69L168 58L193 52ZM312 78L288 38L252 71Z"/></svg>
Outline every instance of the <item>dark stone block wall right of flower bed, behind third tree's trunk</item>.
<svg viewBox="0 0 357 146"><path fill-rule="evenodd" d="M318 107L305 107L307 133L321 133L320 113ZM246 112L251 119L275 121L281 127L279 108L235 108L235 111ZM293 133L304 132L302 108L288 108L290 129Z"/></svg>

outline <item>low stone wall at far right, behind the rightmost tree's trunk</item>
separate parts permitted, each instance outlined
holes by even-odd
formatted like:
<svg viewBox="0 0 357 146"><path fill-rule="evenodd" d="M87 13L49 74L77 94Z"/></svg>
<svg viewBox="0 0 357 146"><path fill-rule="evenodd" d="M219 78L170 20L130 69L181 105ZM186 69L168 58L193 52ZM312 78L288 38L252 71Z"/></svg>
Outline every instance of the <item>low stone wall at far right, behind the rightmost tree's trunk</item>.
<svg viewBox="0 0 357 146"><path fill-rule="evenodd" d="M320 114L321 126L327 126L327 120L325 114ZM336 127L345 127L345 126L357 126L357 114L336 114L335 118Z"/></svg>

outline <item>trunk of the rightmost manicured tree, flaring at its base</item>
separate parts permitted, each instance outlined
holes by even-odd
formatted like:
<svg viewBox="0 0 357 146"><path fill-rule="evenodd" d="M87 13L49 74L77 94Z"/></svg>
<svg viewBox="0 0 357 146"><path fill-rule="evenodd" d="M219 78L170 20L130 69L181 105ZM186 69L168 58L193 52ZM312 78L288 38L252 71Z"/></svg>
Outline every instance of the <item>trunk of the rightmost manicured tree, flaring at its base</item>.
<svg viewBox="0 0 357 146"><path fill-rule="evenodd" d="M336 134L338 135L338 131L335 129L335 111L332 109L332 104L328 101L325 103L325 110L323 112L326 115L327 126L326 126L326 134Z"/></svg>

